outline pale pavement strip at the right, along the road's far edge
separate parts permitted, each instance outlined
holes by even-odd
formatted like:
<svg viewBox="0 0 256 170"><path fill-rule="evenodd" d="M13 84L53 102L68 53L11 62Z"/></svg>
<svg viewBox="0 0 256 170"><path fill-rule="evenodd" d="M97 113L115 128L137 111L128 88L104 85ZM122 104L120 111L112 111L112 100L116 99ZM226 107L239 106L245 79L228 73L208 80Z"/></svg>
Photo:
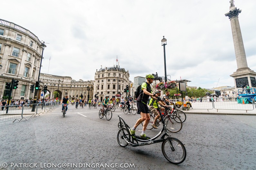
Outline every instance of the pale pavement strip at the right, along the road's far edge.
<svg viewBox="0 0 256 170"><path fill-rule="evenodd" d="M180 109L182 110L182 109ZM185 109L185 114L211 114L211 115L256 115L256 109L253 110L227 110L227 109Z"/></svg>

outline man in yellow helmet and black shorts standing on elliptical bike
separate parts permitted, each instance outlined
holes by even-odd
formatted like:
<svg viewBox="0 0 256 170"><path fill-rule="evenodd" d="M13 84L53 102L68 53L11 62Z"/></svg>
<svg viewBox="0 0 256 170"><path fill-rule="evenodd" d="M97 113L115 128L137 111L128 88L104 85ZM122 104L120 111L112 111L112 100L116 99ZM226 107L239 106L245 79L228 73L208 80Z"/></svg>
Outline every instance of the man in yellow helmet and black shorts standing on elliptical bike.
<svg viewBox="0 0 256 170"><path fill-rule="evenodd" d="M146 78L147 82L144 82L141 84L142 93L140 93L139 97L137 98L137 108L138 108L137 114L140 114L141 118L139 118L137 120L136 124L133 126L133 128L130 128L129 131L130 131L130 134L132 135L132 137L134 137L133 135L136 132L135 130L136 130L137 126L144 121L140 137L142 137L144 139L150 139L145 134L147 124L150 120L149 110L147 107L147 100L148 100L149 96L151 96L151 98L154 98L150 84L153 83L155 77L152 74L147 74L145 78ZM157 94L155 96L157 97Z"/></svg>

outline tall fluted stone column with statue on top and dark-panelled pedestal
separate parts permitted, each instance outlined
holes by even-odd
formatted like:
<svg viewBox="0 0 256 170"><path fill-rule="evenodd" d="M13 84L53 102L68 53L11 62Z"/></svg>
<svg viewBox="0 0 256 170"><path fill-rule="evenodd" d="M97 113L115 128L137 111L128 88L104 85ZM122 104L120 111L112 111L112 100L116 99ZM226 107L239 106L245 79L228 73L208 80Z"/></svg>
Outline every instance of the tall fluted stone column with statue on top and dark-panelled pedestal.
<svg viewBox="0 0 256 170"><path fill-rule="evenodd" d="M241 11L242 10L239 10L235 7L234 1L231 0L229 13L225 14L225 16L227 16L231 22L231 30L235 47L237 70L230 76L234 78L236 89L243 88L246 85L249 85L250 87L256 87L256 72L251 70L247 65L242 33L238 21L238 15L241 13Z"/></svg>

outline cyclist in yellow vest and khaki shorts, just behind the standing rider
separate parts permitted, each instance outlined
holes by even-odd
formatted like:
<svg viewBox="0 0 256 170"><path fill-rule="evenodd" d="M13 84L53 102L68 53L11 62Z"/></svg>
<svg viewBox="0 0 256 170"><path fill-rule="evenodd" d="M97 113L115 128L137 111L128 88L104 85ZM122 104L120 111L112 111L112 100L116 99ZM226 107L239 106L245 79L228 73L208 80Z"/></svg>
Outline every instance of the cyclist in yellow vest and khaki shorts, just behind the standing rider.
<svg viewBox="0 0 256 170"><path fill-rule="evenodd" d="M157 92L157 93L156 93ZM157 94L157 96L160 96L161 95L161 90L157 90L155 93ZM165 102L163 101L159 101L158 104L162 105L162 106L165 106L165 107L168 107ZM160 108L161 111L164 111L165 108L164 107L161 107L160 105L158 105L158 107ZM151 98L150 101L149 101L149 109L151 110L151 112L154 113L154 115L156 116L155 117L155 120L153 122L153 124L151 124L151 126L153 126L155 129L158 129L156 127L156 120L160 117L160 114L157 112L157 106L156 106L156 99L155 98ZM159 119L160 120L160 119Z"/></svg>

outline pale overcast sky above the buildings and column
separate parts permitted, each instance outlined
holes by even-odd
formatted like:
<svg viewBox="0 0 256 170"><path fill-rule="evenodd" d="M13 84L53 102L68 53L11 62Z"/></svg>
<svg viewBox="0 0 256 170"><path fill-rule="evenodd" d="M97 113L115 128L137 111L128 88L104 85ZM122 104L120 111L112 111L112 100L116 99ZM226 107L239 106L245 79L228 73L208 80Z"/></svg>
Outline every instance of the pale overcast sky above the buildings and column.
<svg viewBox="0 0 256 170"><path fill-rule="evenodd" d="M256 71L256 1L235 0L234 5L242 10L248 67ZM1 6L1 19L49 43L42 73L87 81L101 65L119 64L131 81L156 72L164 76L165 36L168 79L186 79L197 88L234 86L230 75L237 64L224 15L229 0L10 0Z"/></svg>

